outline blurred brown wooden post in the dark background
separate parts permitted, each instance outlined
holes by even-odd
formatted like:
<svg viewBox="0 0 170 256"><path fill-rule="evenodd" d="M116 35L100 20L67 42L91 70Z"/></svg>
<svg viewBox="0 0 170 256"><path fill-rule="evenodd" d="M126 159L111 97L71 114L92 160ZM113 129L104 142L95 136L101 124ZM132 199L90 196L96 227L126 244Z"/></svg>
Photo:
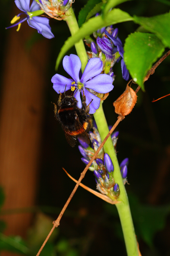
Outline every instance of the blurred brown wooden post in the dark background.
<svg viewBox="0 0 170 256"><path fill-rule="evenodd" d="M35 31L27 22L19 32L11 28L4 49L0 119L0 185L6 196L3 209L31 207L36 198L49 40L42 37L26 50L25 43ZM31 217L31 213L2 216L7 224L5 234L24 237Z"/></svg>

